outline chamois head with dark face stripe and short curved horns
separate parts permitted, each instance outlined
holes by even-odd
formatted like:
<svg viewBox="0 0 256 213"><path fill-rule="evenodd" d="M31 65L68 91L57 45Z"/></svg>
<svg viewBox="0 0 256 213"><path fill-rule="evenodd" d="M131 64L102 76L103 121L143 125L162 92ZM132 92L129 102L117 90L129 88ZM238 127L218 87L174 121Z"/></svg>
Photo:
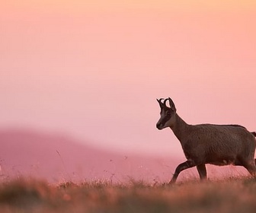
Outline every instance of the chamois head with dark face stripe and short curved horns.
<svg viewBox="0 0 256 213"><path fill-rule="evenodd" d="M161 130L165 129L166 127L171 127L174 125L175 122L175 114L176 114L176 108L171 100L170 97L166 98L163 102L164 98L157 99L159 106L161 108L160 111L160 119L158 120L156 124L156 128ZM170 106L167 106L166 103L169 101Z"/></svg>

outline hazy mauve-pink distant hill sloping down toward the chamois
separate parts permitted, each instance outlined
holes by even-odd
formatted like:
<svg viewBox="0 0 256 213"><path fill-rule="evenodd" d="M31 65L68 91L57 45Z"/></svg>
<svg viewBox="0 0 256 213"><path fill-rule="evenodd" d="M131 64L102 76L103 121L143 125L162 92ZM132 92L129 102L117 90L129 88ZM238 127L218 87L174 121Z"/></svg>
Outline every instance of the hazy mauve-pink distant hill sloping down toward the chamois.
<svg viewBox="0 0 256 213"><path fill-rule="evenodd" d="M174 165L171 167L170 165ZM27 130L0 131L2 178L36 176L50 181L166 181L178 162L91 148L62 135Z"/></svg>

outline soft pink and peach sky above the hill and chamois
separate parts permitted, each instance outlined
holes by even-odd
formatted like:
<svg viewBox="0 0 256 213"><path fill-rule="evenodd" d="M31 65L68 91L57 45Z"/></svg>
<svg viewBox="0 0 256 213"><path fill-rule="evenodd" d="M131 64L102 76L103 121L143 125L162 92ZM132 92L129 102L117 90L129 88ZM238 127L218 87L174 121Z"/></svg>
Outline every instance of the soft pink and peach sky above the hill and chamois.
<svg viewBox="0 0 256 213"><path fill-rule="evenodd" d="M255 1L6 2L1 129L180 156L172 132L155 128L155 98L171 97L188 123L256 130Z"/></svg>

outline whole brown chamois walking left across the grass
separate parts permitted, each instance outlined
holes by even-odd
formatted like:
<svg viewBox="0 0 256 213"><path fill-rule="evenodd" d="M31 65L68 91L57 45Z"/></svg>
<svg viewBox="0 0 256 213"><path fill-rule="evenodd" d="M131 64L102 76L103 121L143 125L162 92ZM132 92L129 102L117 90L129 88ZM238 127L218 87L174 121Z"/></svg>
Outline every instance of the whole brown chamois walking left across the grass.
<svg viewBox="0 0 256 213"><path fill-rule="evenodd" d="M170 127L181 142L187 158L187 161L178 165L169 183L175 183L179 173L190 167L197 167L200 180L205 180L206 164L243 166L256 177L256 132L248 132L244 126L239 125L189 125L178 116L170 97L157 101L161 108L157 129ZM170 106L167 106L167 101Z"/></svg>

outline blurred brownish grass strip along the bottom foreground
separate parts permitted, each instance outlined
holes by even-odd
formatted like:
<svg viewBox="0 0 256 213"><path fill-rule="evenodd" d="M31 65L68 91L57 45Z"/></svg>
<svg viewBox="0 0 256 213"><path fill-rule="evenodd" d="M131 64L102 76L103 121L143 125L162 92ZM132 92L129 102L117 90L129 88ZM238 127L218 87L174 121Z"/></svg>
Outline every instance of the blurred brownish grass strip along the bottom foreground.
<svg viewBox="0 0 256 213"><path fill-rule="evenodd" d="M114 184L107 181L49 184L22 178L0 183L0 212L255 212L256 180L231 178Z"/></svg>

